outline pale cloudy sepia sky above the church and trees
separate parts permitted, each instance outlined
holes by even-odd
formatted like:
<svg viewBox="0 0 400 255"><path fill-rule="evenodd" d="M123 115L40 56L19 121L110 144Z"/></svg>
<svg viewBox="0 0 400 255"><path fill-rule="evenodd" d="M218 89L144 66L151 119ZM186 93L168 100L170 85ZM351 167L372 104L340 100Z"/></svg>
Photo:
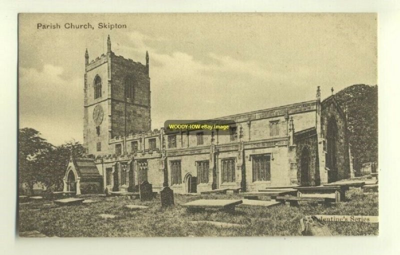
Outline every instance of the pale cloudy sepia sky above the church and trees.
<svg viewBox="0 0 400 255"><path fill-rule="evenodd" d="M19 128L54 145L83 141L84 52L145 63L152 129L322 98L377 83L376 14L20 14ZM100 29L97 23L126 24ZM59 29L37 29L37 23ZM65 29L64 23L94 29Z"/></svg>

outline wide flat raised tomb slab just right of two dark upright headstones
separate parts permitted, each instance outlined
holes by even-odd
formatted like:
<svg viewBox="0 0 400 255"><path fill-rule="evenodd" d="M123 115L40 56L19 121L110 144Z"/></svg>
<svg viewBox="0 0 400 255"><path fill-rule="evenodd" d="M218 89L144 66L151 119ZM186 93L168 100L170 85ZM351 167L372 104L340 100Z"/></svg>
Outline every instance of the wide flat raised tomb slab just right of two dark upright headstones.
<svg viewBox="0 0 400 255"><path fill-rule="evenodd" d="M242 203L242 200L236 199L199 199L182 204L187 211L196 212L205 209L222 209L227 212L233 212L235 205Z"/></svg>

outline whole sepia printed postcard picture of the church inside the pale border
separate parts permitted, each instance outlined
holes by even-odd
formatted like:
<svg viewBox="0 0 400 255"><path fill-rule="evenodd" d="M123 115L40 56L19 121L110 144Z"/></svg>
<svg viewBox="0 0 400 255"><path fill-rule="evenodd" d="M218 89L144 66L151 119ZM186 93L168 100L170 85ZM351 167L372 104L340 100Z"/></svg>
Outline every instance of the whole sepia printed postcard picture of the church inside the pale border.
<svg viewBox="0 0 400 255"><path fill-rule="evenodd" d="M16 234L378 235L376 13L19 13Z"/></svg>

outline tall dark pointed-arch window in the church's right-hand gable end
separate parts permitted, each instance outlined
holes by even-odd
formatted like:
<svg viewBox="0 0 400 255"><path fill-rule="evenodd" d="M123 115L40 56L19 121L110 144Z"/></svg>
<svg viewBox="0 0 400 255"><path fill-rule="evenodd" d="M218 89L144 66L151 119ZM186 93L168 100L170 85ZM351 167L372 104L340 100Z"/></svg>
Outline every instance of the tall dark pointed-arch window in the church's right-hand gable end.
<svg viewBox="0 0 400 255"><path fill-rule="evenodd" d="M336 142L337 142L337 125L336 120L332 117L328 121L326 132L326 167L328 170L328 182L336 181L337 165L336 165Z"/></svg>

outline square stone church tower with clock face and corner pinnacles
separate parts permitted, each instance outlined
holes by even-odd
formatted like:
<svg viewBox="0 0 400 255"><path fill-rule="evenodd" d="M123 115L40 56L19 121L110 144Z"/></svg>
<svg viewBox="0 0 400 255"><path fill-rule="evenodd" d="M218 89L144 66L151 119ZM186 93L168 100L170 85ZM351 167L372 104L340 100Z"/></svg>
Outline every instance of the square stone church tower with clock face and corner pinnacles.
<svg viewBox="0 0 400 255"><path fill-rule="evenodd" d="M113 154L111 138L151 129L148 53L146 64L117 56L108 35L105 54L89 61L86 49L84 57L83 146L88 155Z"/></svg>

